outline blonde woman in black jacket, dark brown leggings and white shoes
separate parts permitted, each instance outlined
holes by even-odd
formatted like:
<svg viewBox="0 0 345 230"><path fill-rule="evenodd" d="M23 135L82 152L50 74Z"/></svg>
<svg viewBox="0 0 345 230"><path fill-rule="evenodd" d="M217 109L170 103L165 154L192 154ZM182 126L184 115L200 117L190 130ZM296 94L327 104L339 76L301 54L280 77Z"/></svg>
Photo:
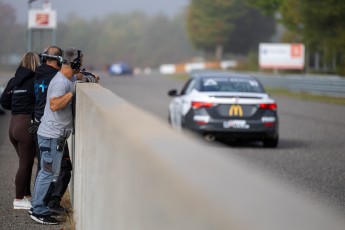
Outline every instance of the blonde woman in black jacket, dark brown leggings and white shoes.
<svg viewBox="0 0 345 230"><path fill-rule="evenodd" d="M35 105L34 70L40 65L37 53L25 53L15 73L11 105L9 138L19 157L19 167L15 177L16 197L14 209L31 208L31 176L36 145L28 128Z"/></svg>

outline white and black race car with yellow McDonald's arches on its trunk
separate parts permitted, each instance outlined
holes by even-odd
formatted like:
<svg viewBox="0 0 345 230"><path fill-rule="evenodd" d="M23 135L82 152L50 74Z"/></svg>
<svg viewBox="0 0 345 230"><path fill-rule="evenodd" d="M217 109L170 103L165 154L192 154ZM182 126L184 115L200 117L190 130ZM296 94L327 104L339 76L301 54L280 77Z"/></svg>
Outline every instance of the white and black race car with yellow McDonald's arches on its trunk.
<svg viewBox="0 0 345 230"><path fill-rule="evenodd" d="M255 140L277 147L279 119L277 103L258 79L236 72L191 74L181 92L172 89L169 122L207 140Z"/></svg>

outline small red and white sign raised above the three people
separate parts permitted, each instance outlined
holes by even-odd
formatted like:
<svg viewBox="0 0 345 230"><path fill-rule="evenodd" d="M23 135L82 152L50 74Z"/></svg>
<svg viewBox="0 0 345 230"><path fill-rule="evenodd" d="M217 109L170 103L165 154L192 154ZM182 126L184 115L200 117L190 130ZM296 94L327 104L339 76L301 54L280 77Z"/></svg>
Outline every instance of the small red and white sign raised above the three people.
<svg viewBox="0 0 345 230"><path fill-rule="evenodd" d="M56 28L56 11L45 10L30 10L29 29L55 29Z"/></svg>

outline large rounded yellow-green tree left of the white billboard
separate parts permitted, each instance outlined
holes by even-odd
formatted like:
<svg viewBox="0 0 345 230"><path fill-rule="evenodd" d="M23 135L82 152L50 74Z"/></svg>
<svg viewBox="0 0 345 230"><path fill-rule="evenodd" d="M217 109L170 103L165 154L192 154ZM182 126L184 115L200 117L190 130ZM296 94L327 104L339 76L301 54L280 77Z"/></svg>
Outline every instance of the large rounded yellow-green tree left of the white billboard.
<svg viewBox="0 0 345 230"><path fill-rule="evenodd" d="M248 54L260 42L270 42L275 19L243 0L192 0L187 31L195 48L221 60L224 54Z"/></svg>

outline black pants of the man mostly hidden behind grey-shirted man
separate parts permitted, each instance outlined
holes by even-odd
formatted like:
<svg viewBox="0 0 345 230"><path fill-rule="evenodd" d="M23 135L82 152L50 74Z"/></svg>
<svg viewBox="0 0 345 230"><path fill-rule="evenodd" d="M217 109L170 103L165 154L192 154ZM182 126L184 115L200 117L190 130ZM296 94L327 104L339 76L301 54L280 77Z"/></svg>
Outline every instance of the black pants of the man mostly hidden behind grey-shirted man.
<svg viewBox="0 0 345 230"><path fill-rule="evenodd" d="M37 142L37 135L35 136L35 141L38 146ZM37 173L41 169L41 153L39 151L39 148L37 148L38 151L36 151L36 156L38 159L38 165L37 165ZM46 197L44 199L44 202L49 206L49 207L54 207L54 206L59 206L60 201L65 194L68 184L71 180L71 171L72 171L72 162L70 159L69 155L69 149L68 149L68 144L66 143L64 151L63 151L63 157L61 161L61 169L60 169L60 174L58 179L56 180L55 183L51 183L48 189L48 192L46 194ZM36 175L37 176L37 175Z"/></svg>

